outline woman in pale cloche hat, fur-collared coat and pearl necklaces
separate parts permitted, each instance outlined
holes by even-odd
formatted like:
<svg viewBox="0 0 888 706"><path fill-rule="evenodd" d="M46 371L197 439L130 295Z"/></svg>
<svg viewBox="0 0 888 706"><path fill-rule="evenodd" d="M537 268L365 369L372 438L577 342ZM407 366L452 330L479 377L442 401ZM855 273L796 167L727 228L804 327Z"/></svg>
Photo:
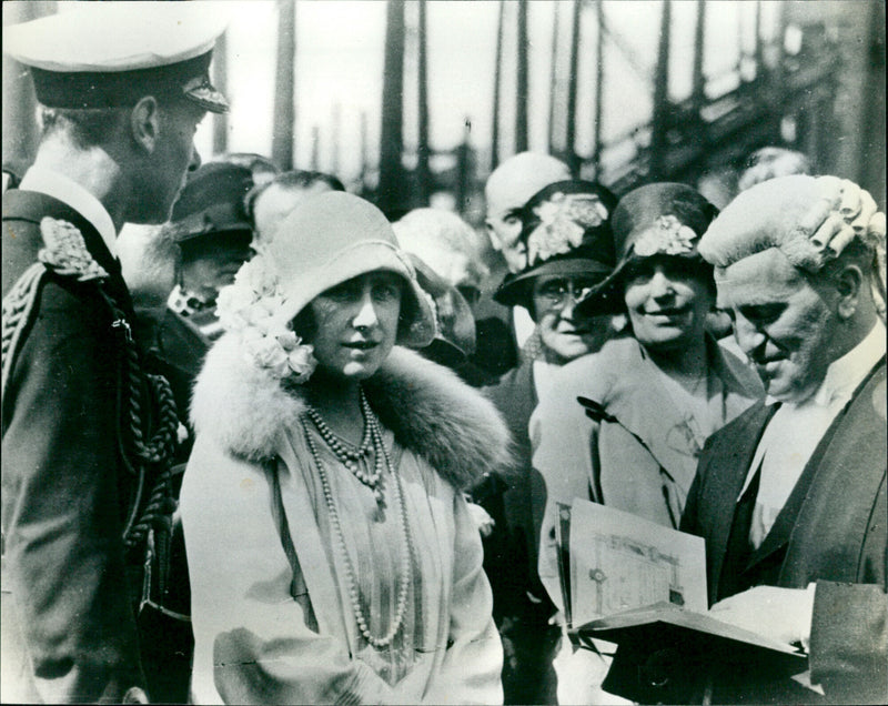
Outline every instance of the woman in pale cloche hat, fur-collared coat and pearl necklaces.
<svg viewBox="0 0 888 706"><path fill-rule="evenodd" d="M223 290L181 504L198 703L502 703L460 492L507 458L493 406L426 345L382 213L303 203Z"/></svg>

